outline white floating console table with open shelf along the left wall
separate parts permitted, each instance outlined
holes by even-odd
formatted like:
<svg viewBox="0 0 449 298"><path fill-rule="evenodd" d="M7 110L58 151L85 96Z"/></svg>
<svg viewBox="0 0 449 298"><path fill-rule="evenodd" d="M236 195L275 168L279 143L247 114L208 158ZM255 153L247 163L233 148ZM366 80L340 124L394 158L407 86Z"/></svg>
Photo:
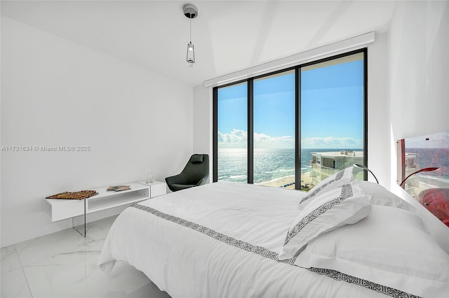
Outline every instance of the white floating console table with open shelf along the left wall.
<svg viewBox="0 0 449 298"><path fill-rule="evenodd" d="M123 183L123 185L129 185L131 189L115 192L113 190L107 191L107 187L100 187L95 189L98 194L83 200L44 199L43 211L51 218L52 222L68 218L73 219L76 216L83 215L83 236L86 237L86 214L158 197L167 192L166 183L159 181L154 181L153 183L141 181L137 183ZM78 230L76 229L76 231Z"/></svg>

